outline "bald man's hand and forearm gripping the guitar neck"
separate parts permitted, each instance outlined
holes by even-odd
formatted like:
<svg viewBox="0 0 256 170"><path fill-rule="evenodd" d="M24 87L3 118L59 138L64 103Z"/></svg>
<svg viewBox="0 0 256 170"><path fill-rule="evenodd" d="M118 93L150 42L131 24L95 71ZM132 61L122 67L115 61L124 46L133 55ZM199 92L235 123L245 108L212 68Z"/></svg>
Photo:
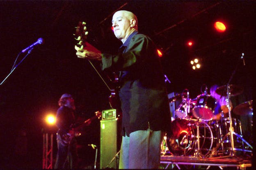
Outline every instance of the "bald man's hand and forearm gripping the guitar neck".
<svg viewBox="0 0 256 170"><path fill-rule="evenodd" d="M89 60L98 60L101 61L101 53L96 53L93 51L88 51L86 49L83 49L83 45L79 48L75 45L75 50L77 51L75 54L78 56L78 58L87 58Z"/></svg>

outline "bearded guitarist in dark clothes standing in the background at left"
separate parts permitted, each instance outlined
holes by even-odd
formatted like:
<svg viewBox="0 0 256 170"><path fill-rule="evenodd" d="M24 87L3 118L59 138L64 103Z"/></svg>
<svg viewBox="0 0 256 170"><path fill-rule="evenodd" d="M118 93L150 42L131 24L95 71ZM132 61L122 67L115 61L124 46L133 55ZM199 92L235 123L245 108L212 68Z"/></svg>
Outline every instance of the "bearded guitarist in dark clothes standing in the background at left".
<svg viewBox="0 0 256 170"><path fill-rule="evenodd" d="M57 132L57 158L55 169L73 169L77 168L78 154L77 141L74 138L75 132L75 104L71 94L63 94L59 98L59 109L56 114L56 125L59 128Z"/></svg>

